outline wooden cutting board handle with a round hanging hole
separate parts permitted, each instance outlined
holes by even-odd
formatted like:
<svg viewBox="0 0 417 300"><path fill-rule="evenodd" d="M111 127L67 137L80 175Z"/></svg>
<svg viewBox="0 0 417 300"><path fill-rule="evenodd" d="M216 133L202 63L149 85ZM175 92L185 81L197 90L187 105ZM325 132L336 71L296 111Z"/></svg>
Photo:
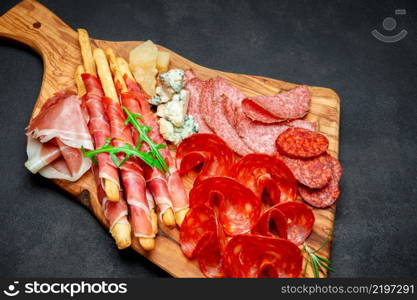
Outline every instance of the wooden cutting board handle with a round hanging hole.
<svg viewBox="0 0 417 300"><path fill-rule="evenodd" d="M50 54L64 56L65 47L57 47L63 42L78 47L76 32L35 0L22 1L0 17L0 36L30 46L44 61Z"/></svg>

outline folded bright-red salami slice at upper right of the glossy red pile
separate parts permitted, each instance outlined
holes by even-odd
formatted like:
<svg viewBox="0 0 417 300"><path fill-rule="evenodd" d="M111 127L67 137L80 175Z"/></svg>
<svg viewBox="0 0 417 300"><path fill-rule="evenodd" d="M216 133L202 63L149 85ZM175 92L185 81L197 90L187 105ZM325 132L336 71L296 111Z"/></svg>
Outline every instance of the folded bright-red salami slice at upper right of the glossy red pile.
<svg viewBox="0 0 417 300"><path fill-rule="evenodd" d="M267 193L272 204L297 197L294 175L283 161L270 155L246 155L232 167L230 175L258 197Z"/></svg>

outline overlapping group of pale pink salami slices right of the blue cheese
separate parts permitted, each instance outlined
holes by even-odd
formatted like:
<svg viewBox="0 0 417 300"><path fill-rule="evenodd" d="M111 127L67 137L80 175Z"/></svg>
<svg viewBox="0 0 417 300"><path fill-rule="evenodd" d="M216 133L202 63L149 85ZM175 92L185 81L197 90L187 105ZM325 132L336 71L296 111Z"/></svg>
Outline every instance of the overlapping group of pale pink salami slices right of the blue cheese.
<svg viewBox="0 0 417 300"><path fill-rule="evenodd" d="M291 127L317 130L315 123L301 119L310 108L305 86L249 99L221 77L203 81L188 71L187 78L188 114L199 124L199 133L217 134L239 155L275 154L275 139Z"/></svg>

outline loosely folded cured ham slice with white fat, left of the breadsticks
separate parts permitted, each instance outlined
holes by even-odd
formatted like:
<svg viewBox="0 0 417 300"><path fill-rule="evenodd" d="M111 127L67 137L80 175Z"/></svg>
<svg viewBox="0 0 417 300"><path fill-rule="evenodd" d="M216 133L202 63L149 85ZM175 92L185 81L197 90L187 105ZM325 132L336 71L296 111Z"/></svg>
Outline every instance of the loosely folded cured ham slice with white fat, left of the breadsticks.
<svg viewBox="0 0 417 300"><path fill-rule="evenodd" d="M27 130L25 166L47 178L77 181L91 167L81 147L92 150L81 100L71 91L49 98Z"/></svg>

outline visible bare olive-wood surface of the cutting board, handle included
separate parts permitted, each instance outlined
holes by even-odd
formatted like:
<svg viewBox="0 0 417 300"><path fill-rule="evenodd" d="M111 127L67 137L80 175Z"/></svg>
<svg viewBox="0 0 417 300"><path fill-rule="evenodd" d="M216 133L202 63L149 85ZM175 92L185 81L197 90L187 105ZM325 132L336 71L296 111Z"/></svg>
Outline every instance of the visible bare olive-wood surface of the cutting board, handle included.
<svg viewBox="0 0 417 300"><path fill-rule="evenodd" d="M67 26L59 17L46 7L34 0L26 0L0 17L0 36L11 38L29 45L41 56L44 64L42 88L33 109L35 116L43 103L54 92L72 88L75 90L73 74L77 65L82 64L78 35L76 31ZM152 38L149 33L149 38ZM92 40L95 47L111 47L117 55L128 57L131 49L141 42L111 42ZM231 84L240 88L247 96L259 94L274 94L282 90L296 87L296 84L280 80L250 76L242 74L226 73L212 70L197 65L184 57L158 46L160 49L171 53L171 67L181 69L193 69L201 79L221 76ZM209 54L207 54L209 55ZM337 94L328 88L310 87L312 95L311 111L307 116L310 121L319 124L320 132L325 134L329 141L330 153L337 157L339 149L339 116L340 101ZM22 162L23 164L23 162ZM195 174L184 178L187 191L192 187ZM99 222L108 227L96 194L95 181L91 172L87 172L77 182L54 180L62 189L77 198L86 206ZM308 239L308 245L316 249L325 240L327 233L333 230L335 205L327 209L314 209L316 223L313 233ZM53 213L52 211L50 212ZM132 247L156 265L175 277L202 277L195 261L188 260L181 252L178 244L178 230L161 228L157 237L156 248L151 252L144 252L139 243L133 242ZM330 257L330 243L320 251L325 257ZM115 251L116 248L115 248ZM312 276L308 269L308 276ZM327 274L322 274L327 276Z"/></svg>

